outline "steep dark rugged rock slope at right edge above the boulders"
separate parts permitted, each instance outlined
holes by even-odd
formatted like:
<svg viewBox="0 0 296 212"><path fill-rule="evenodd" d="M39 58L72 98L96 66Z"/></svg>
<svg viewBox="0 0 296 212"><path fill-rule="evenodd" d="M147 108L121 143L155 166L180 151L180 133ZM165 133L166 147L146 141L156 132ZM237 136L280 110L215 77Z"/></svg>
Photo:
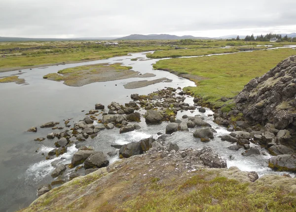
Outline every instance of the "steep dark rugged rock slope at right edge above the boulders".
<svg viewBox="0 0 296 212"><path fill-rule="evenodd" d="M296 127L296 56L252 79L234 101L250 123L273 123L278 130Z"/></svg>

